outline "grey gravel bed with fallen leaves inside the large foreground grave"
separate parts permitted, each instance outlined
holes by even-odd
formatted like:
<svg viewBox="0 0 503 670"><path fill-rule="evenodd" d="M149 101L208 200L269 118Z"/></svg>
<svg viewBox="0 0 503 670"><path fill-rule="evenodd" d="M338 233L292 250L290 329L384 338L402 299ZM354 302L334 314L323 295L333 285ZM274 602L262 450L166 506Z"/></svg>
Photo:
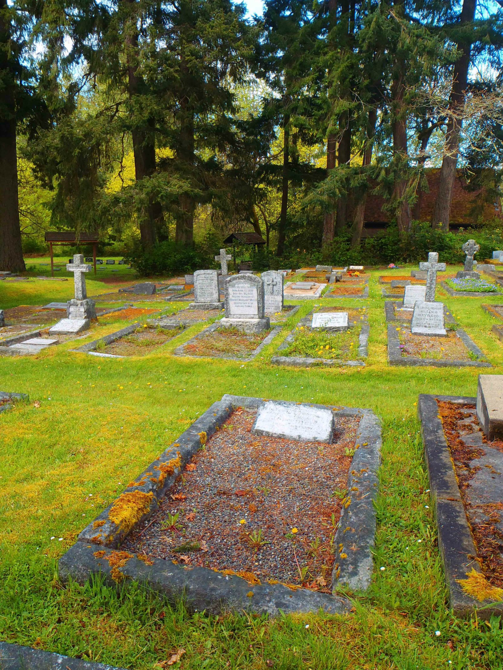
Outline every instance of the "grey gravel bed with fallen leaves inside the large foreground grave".
<svg viewBox="0 0 503 670"><path fill-rule="evenodd" d="M359 419L337 418L326 444L253 435L255 417L235 409L121 549L331 592Z"/></svg>

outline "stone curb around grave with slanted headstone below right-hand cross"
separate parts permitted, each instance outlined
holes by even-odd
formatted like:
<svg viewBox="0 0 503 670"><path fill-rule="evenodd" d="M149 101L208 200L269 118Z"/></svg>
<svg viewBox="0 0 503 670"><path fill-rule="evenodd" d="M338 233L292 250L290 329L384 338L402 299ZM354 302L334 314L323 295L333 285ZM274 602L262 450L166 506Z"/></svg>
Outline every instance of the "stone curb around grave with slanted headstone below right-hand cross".
<svg viewBox="0 0 503 670"><path fill-rule="evenodd" d="M400 304L400 303L398 303ZM460 367L476 367L476 368L492 368L492 363L490 363L480 348L473 342L469 334L463 330L463 328L457 328L456 332L459 336L459 339L463 342L467 350L477 354L485 360L435 360L435 358L417 358L416 356L409 356L404 358L402 352L400 351L400 338L396 332L396 326L394 324L400 323L396 319L393 310L393 303L391 301L386 301L384 304L386 310L386 323L388 324L388 365L399 365L399 366L432 366L435 368L460 368ZM444 311L446 310L444 306ZM450 317L450 318L449 318ZM446 316L445 320L447 323L456 323L450 315Z"/></svg>

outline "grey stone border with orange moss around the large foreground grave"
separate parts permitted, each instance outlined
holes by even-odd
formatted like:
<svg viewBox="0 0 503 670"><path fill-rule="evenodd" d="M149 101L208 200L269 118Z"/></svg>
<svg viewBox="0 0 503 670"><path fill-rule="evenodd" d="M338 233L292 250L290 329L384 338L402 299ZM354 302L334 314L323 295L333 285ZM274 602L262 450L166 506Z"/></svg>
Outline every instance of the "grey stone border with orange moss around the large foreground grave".
<svg viewBox="0 0 503 670"><path fill-rule="evenodd" d="M139 500L131 519L117 525L109 518L114 500L94 521L78 535L76 543L66 551L59 561L59 576L63 582L74 579L80 584L92 574L102 573L111 585L134 580L150 590L166 596L168 600L184 599L189 610L207 610L210 613L223 611L260 612L278 616L282 612L328 613L351 611L351 602L337 596L335 592L323 594L309 589L291 590L282 584L252 586L237 576L224 575L205 567L184 567L164 559L143 561L131 554L120 567L110 567L107 561L113 549L142 521L158 508L160 500L174 484L177 476L192 456L206 444L207 438L225 421L233 409L247 407L258 409L263 399L223 395L196 419L122 496ZM297 403L294 403L297 404ZM307 407L323 407L313 403L302 403ZM373 549L376 533L376 509L374 500L378 494L378 468L382 446L380 420L370 409L351 407L329 407L334 417L360 417L355 435L355 454L347 479L347 494L341 519L335 533L336 558L333 566L333 586L347 586L353 590L366 590L372 580L374 569ZM124 498L123 498L124 499ZM357 551L350 546L356 545ZM115 580L114 580L115 577Z"/></svg>

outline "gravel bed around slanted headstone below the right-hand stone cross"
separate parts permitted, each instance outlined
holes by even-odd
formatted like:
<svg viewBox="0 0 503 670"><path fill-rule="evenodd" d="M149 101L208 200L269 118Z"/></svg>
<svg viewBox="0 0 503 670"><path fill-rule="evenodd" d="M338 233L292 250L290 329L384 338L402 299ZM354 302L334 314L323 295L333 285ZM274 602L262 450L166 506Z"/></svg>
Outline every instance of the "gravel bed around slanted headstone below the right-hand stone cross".
<svg viewBox="0 0 503 670"><path fill-rule="evenodd" d="M411 313L412 314L412 313ZM398 328L402 357L433 358L437 360L472 360L468 350L454 330L448 330L447 336L412 335L410 326L404 324Z"/></svg>

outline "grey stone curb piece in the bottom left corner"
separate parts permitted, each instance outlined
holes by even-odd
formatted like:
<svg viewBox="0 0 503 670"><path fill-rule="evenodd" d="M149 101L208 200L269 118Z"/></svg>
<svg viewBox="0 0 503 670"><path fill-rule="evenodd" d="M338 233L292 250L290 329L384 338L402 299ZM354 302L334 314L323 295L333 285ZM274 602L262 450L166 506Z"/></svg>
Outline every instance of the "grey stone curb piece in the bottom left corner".
<svg viewBox="0 0 503 670"><path fill-rule="evenodd" d="M123 670L123 668L0 642L0 670Z"/></svg>

